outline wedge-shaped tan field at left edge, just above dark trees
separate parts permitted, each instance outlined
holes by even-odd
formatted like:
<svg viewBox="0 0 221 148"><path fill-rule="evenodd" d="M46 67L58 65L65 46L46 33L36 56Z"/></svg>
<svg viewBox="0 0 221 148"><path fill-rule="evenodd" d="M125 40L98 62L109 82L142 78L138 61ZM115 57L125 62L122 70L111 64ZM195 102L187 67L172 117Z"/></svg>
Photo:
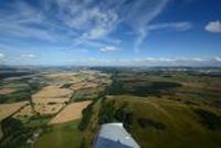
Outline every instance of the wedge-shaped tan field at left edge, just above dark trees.
<svg viewBox="0 0 221 148"><path fill-rule="evenodd" d="M19 103L0 105L0 120L11 116L15 112L18 112L21 107L23 107L28 104L29 104L29 102L19 102Z"/></svg>

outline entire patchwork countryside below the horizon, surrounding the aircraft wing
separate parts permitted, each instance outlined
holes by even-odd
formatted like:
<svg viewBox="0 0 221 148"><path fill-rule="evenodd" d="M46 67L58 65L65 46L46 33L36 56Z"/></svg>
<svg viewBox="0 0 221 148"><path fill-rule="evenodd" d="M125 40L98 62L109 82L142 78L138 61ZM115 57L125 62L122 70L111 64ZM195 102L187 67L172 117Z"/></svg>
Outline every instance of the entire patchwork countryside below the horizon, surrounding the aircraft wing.
<svg viewBox="0 0 221 148"><path fill-rule="evenodd" d="M120 121L141 147L220 147L217 71L49 68L3 78L0 146L90 148L102 124Z"/></svg>

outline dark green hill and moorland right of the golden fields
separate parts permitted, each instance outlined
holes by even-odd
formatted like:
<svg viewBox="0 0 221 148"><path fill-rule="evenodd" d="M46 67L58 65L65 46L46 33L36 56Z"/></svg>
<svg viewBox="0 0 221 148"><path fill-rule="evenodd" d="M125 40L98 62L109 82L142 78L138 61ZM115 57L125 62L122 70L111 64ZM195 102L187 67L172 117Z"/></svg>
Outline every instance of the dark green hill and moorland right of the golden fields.
<svg viewBox="0 0 221 148"><path fill-rule="evenodd" d="M221 147L221 89L215 86L220 77L187 72L112 73L108 95L94 101L80 124L86 148L99 126L113 121L124 123L144 148Z"/></svg>

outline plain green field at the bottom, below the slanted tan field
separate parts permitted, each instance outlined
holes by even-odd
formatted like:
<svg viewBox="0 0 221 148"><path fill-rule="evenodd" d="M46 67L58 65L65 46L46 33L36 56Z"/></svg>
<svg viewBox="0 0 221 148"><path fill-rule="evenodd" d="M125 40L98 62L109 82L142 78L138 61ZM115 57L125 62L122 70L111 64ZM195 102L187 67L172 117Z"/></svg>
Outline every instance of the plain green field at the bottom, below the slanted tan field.
<svg viewBox="0 0 221 148"><path fill-rule="evenodd" d="M78 146L78 120L52 126L35 141L34 148L76 148Z"/></svg>

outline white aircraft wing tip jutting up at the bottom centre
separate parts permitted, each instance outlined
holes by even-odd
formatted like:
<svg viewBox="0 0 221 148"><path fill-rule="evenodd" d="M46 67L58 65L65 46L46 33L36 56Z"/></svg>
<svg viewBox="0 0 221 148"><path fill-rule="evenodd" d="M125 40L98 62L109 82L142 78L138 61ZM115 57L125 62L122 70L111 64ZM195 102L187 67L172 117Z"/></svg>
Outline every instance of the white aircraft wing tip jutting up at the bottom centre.
<svg viewBox="0 0 221 148"><path fill-rule="evenodd" d="M95 139L94 148L140 148L122 123L104 124Z"/></svg>

